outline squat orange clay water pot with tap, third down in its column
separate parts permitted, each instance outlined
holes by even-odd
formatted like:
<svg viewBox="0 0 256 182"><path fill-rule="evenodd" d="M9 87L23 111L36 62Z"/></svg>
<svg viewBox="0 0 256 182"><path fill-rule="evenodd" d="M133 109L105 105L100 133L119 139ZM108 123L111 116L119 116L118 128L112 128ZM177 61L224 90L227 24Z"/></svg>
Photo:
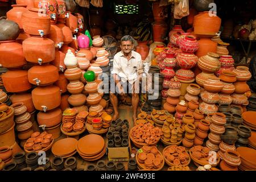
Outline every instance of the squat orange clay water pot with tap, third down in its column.
<svg viewBox="0 0 256 182"><path fill-rule="evenodd" d="M58 78L58 69L53 65L39 65L28 69L28 81L33 85L51 85Z"/></svg>

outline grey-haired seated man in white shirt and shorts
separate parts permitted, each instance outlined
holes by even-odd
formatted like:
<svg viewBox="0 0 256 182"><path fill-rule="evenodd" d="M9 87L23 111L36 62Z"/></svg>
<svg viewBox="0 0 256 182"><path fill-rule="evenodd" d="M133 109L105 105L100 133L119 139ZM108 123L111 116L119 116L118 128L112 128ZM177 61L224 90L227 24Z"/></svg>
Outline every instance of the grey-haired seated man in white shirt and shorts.
<svg viewBox="0 0 256 182"><path fill-rule="evenodd" d="M133 121L137 118L137 108L139 104L139 81L143 74L143 64L141 55L135 51L135 40L130 35L125 35L121 39L121 51L115 54L113 60L112 75L115 82L115 90L110 90L110 102L114 107L113 120L118 115L118 99L115 94L124 96L132 94ZM127 92L128 90L128 92Z"/></svg>

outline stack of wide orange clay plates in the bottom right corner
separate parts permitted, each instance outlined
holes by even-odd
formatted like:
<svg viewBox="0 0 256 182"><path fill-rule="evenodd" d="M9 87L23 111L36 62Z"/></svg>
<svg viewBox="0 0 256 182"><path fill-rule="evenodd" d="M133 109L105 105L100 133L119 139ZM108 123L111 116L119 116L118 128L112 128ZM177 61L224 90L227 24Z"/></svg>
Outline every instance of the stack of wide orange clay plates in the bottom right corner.
<svg viewBox="0 0 256 182"><path fill-rule="evenodd" d="M248 147L238 147L237 152L240 154L240 170L256 170L256 150Z"/></svg>

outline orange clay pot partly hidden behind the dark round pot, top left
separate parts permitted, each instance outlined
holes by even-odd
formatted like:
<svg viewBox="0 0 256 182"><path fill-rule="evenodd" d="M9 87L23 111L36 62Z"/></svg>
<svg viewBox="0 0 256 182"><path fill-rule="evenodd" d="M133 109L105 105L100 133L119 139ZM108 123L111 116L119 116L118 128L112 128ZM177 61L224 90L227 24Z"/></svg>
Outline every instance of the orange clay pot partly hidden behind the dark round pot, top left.
<svg viewBox="0 0 256 182"><path fill-rule="evenodd" d="M28 11L28 9L26 9L27 5L11 5L11 7L13 7L13 9L6 13L7 19L18 23L19 28L23 29L22 13Z"/></svg>

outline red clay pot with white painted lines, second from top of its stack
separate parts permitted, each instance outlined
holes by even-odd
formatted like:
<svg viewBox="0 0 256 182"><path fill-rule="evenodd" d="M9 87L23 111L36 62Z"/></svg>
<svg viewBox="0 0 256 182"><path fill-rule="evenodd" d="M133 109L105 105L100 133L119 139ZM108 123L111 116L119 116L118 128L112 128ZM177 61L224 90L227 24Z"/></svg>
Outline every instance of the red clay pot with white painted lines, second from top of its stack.
<svg viewBox="0 0 256 182"><path fill-rule="evenodd" d="M177 64L181 68L185 68L185 69L191 69L195 67L198 60L199 60L198 57L193 53L182 52L176 56Z"/></svg>

